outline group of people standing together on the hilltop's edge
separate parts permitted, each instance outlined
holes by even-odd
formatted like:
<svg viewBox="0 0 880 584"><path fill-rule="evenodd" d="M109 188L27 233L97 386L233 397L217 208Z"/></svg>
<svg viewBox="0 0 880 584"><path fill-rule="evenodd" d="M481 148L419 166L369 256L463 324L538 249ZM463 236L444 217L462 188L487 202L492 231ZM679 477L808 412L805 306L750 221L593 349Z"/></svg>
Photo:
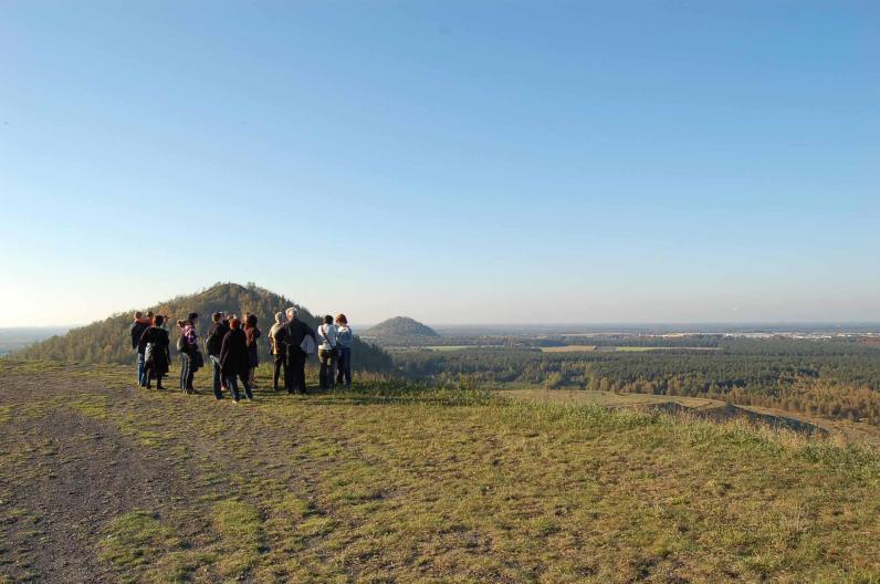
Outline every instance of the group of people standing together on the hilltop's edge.
<svg viewBox="0 0 880 584"><path fill-rule="evenodd" d="M258 340L262 336L256 326L255 314L216 312L211 326L205 337L206 362L199 348L195 312L186 320L177 321L177 350L180 354L180 390L196 393L193 378L196 372L207 363L211 365L211 385L217 399L223 399L228 392L232 400L241 400L239 384L244 397L253 399L254 371L259 365ZM137 352L137 383L150 388L153 379L156 387L164 389L163 377L168 375L171 363L169 319L153 311L135 313L130 327L132 348ZM272 387L279 390L283 379L287 393L306 393L305 364L310 355L317 353L321 363L319 385L323 389L335 383L352 384L352 344L354 333L345 314L335 319L327 315L317 331L296 317L296 309L275 314L275 323L269 332L269 347L273 358ZM283 371L283 375L282 375Z"/></svg>

